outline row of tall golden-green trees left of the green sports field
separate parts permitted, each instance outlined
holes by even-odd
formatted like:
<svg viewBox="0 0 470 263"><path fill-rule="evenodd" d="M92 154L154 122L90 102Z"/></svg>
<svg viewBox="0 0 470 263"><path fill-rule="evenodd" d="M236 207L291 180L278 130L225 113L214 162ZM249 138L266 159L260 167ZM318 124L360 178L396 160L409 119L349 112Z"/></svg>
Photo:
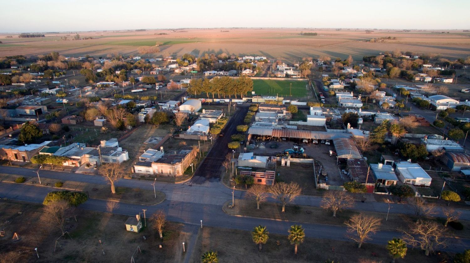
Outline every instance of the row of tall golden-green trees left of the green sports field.
<svg viewBox="0 0 470 263"><path fill-rule="evenodd" d="M195 96L205 93L207 98L209 94L212 98L215 98L217 94L218 98L226 98L226 96L240 95L243 98L248 92L253 90L253 81L247 76L240 76L237 79L223 76L212 79L194 79L188 85L188 94L194 94Z"/></svg>

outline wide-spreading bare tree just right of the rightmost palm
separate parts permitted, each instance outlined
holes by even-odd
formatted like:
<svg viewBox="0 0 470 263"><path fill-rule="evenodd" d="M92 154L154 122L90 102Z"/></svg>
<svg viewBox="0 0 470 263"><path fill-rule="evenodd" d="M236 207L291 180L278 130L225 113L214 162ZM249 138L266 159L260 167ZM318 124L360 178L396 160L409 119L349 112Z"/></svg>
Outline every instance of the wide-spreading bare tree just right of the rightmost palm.
<svg viewBox="0 0 470 263"><path fill-rule="evenodd" d="M436 222L421 219L412 223L408 232L403 232L403 240L413 247L423 249L424 255L429 255L436 248L445 247L443 236L444 229Z"/></svg>

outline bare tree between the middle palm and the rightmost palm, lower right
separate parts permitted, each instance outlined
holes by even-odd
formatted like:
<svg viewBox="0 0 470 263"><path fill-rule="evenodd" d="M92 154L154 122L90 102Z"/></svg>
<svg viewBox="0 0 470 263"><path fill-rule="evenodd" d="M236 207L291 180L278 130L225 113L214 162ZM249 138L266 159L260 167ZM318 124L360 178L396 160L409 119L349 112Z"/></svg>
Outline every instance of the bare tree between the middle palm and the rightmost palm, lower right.
<svg viewBox="0 0 470 263"><path fill-rule="evenodd" d="M376 233L382 223L379 218L357 214L353 215L345 224L348 226L348 233L351 233L349 237L356 241L357 247L360 248L365 240L370 240L369 235Z"/></svg>

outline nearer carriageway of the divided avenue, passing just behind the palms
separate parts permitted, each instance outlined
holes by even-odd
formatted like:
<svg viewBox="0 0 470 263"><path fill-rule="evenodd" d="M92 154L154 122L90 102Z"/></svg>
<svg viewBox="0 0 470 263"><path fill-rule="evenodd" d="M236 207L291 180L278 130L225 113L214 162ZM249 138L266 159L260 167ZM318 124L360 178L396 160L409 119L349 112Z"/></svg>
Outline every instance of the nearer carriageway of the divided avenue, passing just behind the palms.
<svg viewBox="0 0 470 263"><path fill-rule="evenodd" d="M10 199L22 200L27 202L41 203L44 196L53 188L42 188L24 184L0 183L0 196ZM106 201L90 199L86 203L80 205L83 209L105 211ZM121 203L115 213L133 216L142 209L148 209L147 214L150 215L156 210L164 210L167 213L168 220L182 222L188 225L203 225L224 227L231 229L239 229L251 231L255 225L266 225L271 233L286 234L292 222L276 221L260 218L243 218L232 217L225 214L220 205L189 203L181 201L165 200L155 206L144 206L137 204ZM346 228L337 225L319 225L319 224L302 224L305 228L305 234L309 237L349 240L346 237ZM379 231L370 240L370 243L386 244L387 240L399 236L399 232ZM470 247L469 239L449 239L448 247L444 250L450 252L462 252L465 248Z"/></svg>

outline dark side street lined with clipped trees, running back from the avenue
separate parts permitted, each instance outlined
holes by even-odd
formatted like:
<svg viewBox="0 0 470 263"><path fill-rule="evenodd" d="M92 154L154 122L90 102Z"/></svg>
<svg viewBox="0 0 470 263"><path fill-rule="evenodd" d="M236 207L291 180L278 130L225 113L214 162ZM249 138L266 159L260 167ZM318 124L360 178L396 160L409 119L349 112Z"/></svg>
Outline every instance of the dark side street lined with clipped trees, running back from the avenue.
<svg viewBox="0 0 470 263"><path fill-rule="evenodd" d="M237 105L235 114L230 118L225 128L222 129L225 135L216 138L211 150L196 169L193 178L190 180L191 183L203 184L206 180L220 180L220 167L222 167L222 162L225 160L225 156L230 150L227 147L227 144L232 141L230 136L236 133L237 125L243 124L243 119L248 112L248 107L249 104Z"/></svg>

